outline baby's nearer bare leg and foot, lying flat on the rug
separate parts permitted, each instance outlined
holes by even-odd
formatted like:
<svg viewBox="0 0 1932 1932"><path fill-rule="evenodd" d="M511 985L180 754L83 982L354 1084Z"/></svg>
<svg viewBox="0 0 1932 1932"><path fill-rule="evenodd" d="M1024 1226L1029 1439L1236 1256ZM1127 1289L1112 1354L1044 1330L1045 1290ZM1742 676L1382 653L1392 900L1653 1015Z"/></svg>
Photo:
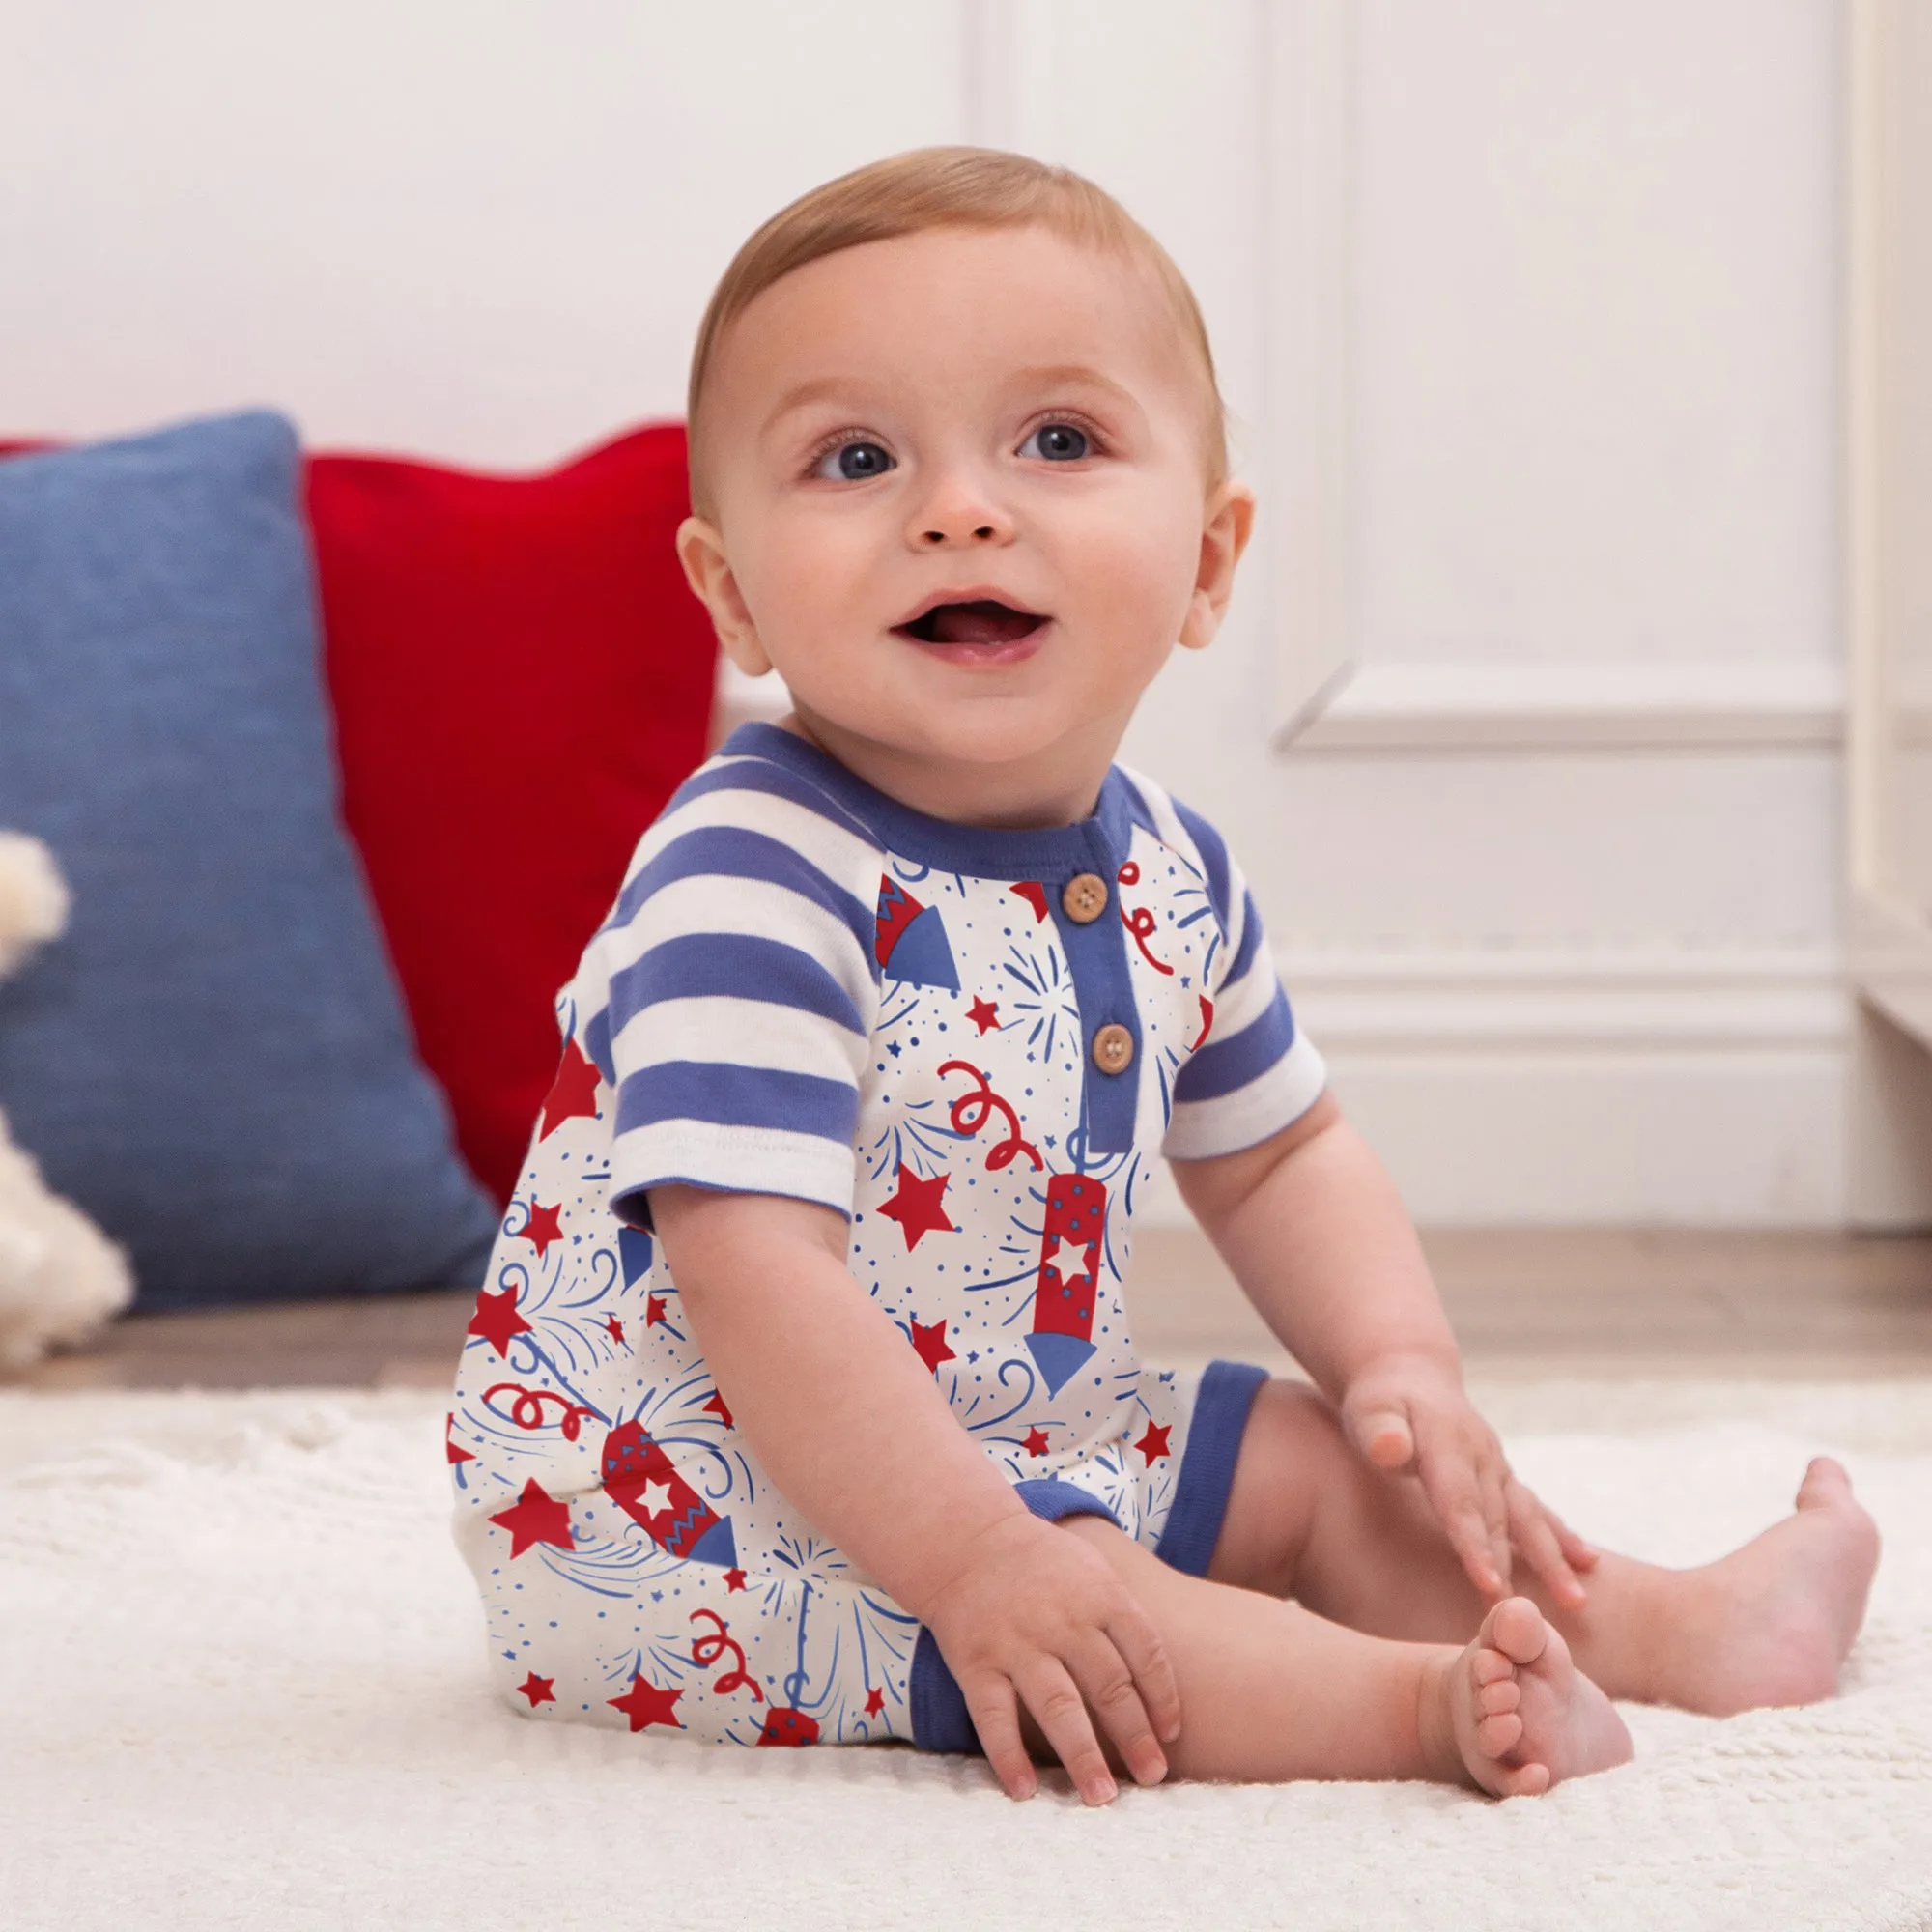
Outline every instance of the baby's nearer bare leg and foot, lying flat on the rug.
<svg viewBox="0 0 1932 1932"><path fill-rule="evenodd" d="M1524 1598L1476 1642L1364 1636L1296 1604L1169 1569L1111 1522L1074 1517L1153 1617L1180 1689L1179 1777L1434 1777L1499 1797L1623 1764L1631 1739ZM1045 1756L1039 1733L1028 1741Z"/></svg>

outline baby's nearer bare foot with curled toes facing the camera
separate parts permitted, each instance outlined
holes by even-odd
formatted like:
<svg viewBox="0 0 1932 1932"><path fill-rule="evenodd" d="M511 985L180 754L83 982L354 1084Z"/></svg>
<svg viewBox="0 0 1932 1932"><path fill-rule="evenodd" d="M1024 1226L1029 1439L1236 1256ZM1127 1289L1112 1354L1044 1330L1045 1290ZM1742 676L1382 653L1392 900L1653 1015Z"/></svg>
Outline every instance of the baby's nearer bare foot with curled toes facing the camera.
<svg viewBox="0 0 1932 1932"><path fill-rule="evenodd" d="M1439 1696L1463 1774L1492 1797L1532 1797L1631 1758L1609 1698L1526 1596L1482 1619L1476 1642L1443 1667Z"/></svg>

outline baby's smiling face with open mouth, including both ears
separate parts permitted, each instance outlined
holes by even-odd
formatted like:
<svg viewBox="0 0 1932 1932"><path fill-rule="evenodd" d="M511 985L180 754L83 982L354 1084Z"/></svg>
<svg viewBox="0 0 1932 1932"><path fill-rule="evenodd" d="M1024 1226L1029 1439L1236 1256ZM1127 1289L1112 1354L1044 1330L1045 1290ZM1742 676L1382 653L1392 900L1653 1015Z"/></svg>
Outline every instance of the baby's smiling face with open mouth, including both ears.
<svg viewBox="0 0 1932 1932"><path fill-rule="evenodd" d="M862 777L947 817L1078 817L1246 539L1202 425L1132 261L1041 228L846 249L721 342L686 568Z"/></svg>

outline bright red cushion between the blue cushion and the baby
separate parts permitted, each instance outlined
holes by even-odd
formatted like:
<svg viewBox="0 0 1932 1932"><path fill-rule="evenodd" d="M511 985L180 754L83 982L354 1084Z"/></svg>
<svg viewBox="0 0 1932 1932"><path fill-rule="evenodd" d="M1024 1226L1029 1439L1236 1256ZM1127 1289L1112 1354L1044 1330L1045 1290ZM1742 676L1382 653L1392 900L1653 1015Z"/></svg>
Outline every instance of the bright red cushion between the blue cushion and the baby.
<svg viewBox="0 0 1932 1932"><path fill-rule="evenodd" d="M715 639L672 549L684 431L537 477L317 456L344 815L471 1169L516 1184L553 995L703 757Z"/></svg>

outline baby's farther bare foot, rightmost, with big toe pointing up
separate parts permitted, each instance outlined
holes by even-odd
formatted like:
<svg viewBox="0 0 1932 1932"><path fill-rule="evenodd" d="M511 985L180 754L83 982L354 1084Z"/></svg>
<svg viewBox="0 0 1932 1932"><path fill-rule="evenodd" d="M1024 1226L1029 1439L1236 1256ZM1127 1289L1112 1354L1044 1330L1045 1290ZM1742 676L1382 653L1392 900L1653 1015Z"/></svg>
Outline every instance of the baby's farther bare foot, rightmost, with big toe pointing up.
<svg viewBox="0 0 1932 1932"><path fill-rule="evenodd" d="M1878 1526L1845 1470L1816 1457L1783 1522L1719 1563L1683 1573L1681 1640L1669 1646L1663 1698L1729 1718L1832 1696L1874 1569Z"/></svg>

